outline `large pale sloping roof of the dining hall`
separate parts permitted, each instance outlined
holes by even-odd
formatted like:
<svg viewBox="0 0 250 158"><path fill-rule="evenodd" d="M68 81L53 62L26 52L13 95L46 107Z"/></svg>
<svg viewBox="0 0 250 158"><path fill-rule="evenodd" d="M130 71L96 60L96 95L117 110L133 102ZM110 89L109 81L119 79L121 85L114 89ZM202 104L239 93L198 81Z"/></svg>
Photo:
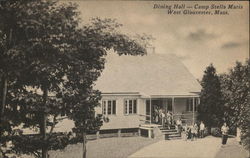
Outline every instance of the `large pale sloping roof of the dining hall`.
<svg viewBox="0 0 250 158"><path fill-rule="evenodd" d="M139 92L141 95L192 95L201 86L174 55L148 54L106 58L95 88L102 93Z"/></svg>

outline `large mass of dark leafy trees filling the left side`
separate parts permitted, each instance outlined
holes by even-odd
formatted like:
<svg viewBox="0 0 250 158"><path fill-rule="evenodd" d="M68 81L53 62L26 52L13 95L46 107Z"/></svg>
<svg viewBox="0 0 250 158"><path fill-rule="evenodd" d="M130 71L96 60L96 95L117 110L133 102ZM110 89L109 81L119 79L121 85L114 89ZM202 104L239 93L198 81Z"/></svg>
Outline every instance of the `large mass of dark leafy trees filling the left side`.
<svg viewBox="0 0 250 158"><path fill-rule="evenodd" d="M101 126L100 116L94 115L100 92L93 90L93 84L104 69L106 54L113 49L119 55L144 55L148 37L138 40L122 34L121 25L111 19L94 18L82 25L77 5L71 3L6 1L1 2L0 12L1 41L13 43L2 42L0 67L5 77L1 119L8 124L12 122L8 118L19 120L9 126L13 150L46 158L48 150L64 148L69 143L67 134L53 132L63 111L86 141L86 132ZM8 85L13 86L7 90ZM13 126L21 123L39 134L13 132Z"/></svg>

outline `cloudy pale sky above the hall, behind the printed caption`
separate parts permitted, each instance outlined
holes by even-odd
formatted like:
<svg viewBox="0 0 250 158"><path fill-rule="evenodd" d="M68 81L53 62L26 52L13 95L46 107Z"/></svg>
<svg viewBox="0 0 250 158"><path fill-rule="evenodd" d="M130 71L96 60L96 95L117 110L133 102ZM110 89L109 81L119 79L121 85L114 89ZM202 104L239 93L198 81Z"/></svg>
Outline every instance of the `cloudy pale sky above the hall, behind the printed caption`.
<svg viewBox="0 0 250 158"><path fill-rule="evenodd" d="M155 53L175 54L189 71L201 79L213 63L218 73L228 72L236 61L249 58L249 3L197 1L74 1L83 22L112 18L123 24L121 31L152 35ZM154 4L240 4L229 15L169 15Z"/></svg>

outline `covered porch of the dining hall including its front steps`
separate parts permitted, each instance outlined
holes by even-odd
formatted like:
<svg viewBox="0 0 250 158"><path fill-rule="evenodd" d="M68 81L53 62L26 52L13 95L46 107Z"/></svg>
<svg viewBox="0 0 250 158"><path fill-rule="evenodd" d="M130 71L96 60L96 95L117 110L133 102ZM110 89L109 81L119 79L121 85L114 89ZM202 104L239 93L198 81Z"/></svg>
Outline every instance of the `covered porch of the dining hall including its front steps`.
<svg viewBox="0 0 250 158"><path fill-rule="evenodd" d="M192 126L196 122L200 99L195 96L150 96L144 98L145 115L140 116L139 135L145 131L149 138L164 137L164 139L181 138L176 128L176 121L181 120L182 125ZM164 127L162 113L171 114L170 127ZM145 133L144 132L144 133Z"/></svg>

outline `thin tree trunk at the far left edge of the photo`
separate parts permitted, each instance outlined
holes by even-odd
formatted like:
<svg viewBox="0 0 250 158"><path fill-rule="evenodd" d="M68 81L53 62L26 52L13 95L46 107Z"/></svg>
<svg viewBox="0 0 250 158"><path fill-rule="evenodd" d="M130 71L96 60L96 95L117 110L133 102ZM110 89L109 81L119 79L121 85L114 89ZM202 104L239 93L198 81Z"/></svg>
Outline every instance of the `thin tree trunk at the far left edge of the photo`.
<svg viewBox="0 0 250 158"><path fill-rule="evenodd" d="M1 95L1 113L0 113L0 136L3 133L3 128L1 127L4 122L4 108L6 104L6 96L7 96L7 78L5 75L2 77L2 95Z"/></svg>

